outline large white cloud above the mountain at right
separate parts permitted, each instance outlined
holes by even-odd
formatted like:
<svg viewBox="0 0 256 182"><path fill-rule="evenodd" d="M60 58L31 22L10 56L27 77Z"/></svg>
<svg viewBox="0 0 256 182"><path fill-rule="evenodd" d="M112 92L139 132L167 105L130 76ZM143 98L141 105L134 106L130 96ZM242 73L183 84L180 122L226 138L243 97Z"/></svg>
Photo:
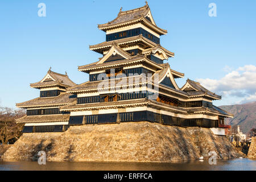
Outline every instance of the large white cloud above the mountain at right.
<svg viewBox="0 0 256 182"><path fill-rule="evenodd" d="M228 70L229 67L225 67ZM227 73L220 80L209 78L197 79L201 85L224 97L232 96L241 98L241 102L256 100L256 67L245 65Z"/></svg>

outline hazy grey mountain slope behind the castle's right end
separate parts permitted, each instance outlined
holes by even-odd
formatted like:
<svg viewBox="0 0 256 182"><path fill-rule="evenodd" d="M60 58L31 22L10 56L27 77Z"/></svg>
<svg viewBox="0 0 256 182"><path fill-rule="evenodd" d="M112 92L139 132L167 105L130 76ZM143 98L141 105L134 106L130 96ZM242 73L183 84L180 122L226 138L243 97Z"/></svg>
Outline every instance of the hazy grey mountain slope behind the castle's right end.
<svg viewBox="0 0 256 182"><path fill-rule="evenodd" d="M234 118L226 118L226 124L231 126L240 125L242 133L256 128L256 101L241 105L219 106L221 109L234 114Z"/></svg>

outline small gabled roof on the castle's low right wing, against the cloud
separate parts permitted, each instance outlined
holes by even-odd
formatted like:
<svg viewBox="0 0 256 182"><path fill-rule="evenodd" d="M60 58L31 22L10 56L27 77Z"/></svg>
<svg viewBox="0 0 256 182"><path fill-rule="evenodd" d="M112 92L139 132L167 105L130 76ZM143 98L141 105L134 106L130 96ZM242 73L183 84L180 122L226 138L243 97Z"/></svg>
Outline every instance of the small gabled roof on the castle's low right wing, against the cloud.
<svg viewBox="0 0 256 182"><path fill-rule="evenodd" d="M210 92L208 89L204 88L199 82L193 81L193 80L187 80L185 85L181 88L181 90L187 92L189 96L197 96L201 94L208 95L210 97L214 97L217 100L221 99L221 96L218 96L217 94Z"/></svg>

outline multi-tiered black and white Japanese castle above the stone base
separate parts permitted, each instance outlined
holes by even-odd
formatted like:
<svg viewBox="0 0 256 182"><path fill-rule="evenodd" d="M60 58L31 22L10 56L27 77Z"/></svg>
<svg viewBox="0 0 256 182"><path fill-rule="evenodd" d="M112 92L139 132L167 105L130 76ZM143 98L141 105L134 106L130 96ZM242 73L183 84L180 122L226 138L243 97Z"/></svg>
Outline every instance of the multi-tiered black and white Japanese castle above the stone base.
<svg viewBox="0 0 256 182"><path fill-rule="evenodd" d="M27 110L16 122L23 133L64 132L74 125L122 122L156 122L182 127L207 127L224 135L224 118L232 114L214 106L221 96L199 82L187 80L182 88L175 79L184 73L167 63L174 52L160 45L167 30L156 26L147 2L138 9L122 11L98 28L106 41L89 46L102 56L92 64L79 66L89 74L80 85L65 73L51 68L39 82L40 97L16 104Z"/></svg>

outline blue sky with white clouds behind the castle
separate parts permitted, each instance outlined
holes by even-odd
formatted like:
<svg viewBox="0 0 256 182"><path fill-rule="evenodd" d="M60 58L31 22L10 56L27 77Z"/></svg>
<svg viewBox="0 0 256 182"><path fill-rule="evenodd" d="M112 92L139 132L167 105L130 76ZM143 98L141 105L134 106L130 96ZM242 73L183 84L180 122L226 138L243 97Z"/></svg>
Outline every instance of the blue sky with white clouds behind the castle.
<svg viewBox="0 0 256 182"><path fill-rule="evenodd" d="M38 4L46 4L46 17ZM217 17L208 15L216 3ZM0 1L0 105L39 96L29 84L52 71L68 72L77 84L88 75L78 65L93 63L100 54L89 45L105 41L97 24L113 20L123 11L144 6L144 1ZM222 95L215 105L256 100L256 1L148 1L156 24L168 30L160 43L175 52L172 69L200 81Z"/></svg>

